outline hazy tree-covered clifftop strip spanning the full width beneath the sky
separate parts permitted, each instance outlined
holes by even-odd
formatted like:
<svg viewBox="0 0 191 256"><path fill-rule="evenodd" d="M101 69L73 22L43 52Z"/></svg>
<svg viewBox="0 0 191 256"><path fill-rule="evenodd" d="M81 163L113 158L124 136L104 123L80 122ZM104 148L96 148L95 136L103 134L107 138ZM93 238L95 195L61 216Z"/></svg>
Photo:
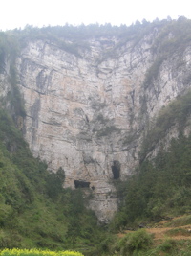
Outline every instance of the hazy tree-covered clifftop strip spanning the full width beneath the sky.
<svg viewBox="0 0 191 256"><path fill-rule="evenodd" d="M27 25L24 30L14 29L7 32L0 32L0 59L4 59L5 53L11 54L12 57L15 56L29 41L38 39L56 43L56 45L65 51L77 57L83 57L83 51L89 50L89 39L111 38L113 36L118 38L118 43L111 51L107 50L104 57L115 57L119 47L121 48L131 40L134 42L134 46L136 46L144 35L148 35L154 30L159 30L160 32L159 39L156 40L154 47L154 52L157 51L159 54L163 51L163 48L166 49L165 52L168 51L171 44L176 48L180 43L180 38L183 39L182 44L185 45L189 40L190 20L180 17L178 21L168 18L161 21L156 19L153 22L148 22L144 19L141 23L137 21L131 26L112 26L110 23L107 23L105 25L90 24L87 26L84 24L79 26L66 24L65 26L37 28ZM167 39L169 32L175 32L174 40ZM187 36L184 36L185 32ZM104 44L104 41L102 43ZM173 47L172 49L174 49Z"/></svg>

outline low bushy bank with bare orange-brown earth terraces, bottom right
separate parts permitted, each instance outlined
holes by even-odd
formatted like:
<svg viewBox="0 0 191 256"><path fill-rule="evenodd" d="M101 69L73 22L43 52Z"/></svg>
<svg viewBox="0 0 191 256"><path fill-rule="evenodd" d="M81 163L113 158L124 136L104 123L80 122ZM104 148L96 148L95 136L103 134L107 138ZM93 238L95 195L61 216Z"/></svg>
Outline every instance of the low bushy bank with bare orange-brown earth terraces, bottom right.
<svg viewBox="0 0 191 256"><path fill-rule="evenodd" d="M188 224L189 222L189 224ZM154 227L125 230L104 240L95 255L108 256L189 256L191 216L161 221Z"/></svg>

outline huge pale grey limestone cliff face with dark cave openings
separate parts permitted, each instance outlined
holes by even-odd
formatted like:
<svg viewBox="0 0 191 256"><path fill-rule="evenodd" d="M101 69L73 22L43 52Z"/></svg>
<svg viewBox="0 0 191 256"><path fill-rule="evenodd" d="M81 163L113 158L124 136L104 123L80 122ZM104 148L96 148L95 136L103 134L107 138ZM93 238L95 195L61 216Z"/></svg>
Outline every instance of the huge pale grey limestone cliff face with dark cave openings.
<svg viewBox="0 0 191 256"><path fill-rule="evenodd" d="M32 40L16 60L32 153L51 171L64 169L65 187L89 187L89 205L100 221L117 211L113 181L127 178L138 164L146 121L191 85L185 82L190 47L179 66L175 53L145 85L157 36L153 30L118 47L117 37L92 38L78 55L51 40Z"/></svg>

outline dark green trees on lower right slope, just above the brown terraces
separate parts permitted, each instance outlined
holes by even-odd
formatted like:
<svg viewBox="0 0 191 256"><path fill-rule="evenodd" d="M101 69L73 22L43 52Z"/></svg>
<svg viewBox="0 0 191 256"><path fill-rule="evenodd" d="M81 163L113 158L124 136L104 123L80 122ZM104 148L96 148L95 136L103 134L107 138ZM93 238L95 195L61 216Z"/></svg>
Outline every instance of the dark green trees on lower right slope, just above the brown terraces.
<svg viewBox="0 0 191 256"><path fill-rule="evenodd" d="M138 175L127 184L126 224L136 219L159 221L166 214L183 214L191 210L190 165L191 136L172 141L168 152L159 151L155 166L144 161Z"/></svg>

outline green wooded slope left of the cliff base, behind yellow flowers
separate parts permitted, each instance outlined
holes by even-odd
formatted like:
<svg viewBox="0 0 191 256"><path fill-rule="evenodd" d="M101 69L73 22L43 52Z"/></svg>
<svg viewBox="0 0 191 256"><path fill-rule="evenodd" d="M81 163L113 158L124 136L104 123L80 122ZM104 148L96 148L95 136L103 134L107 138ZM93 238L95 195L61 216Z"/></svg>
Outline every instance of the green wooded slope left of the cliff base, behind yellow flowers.
<svg viewBox="0 0 191 256"><path fill-rule="evenodd" d="M11 117L0 110L0 248L87 247L100 236L80 190L63 189L64 171L32 157Z"/></svg>

